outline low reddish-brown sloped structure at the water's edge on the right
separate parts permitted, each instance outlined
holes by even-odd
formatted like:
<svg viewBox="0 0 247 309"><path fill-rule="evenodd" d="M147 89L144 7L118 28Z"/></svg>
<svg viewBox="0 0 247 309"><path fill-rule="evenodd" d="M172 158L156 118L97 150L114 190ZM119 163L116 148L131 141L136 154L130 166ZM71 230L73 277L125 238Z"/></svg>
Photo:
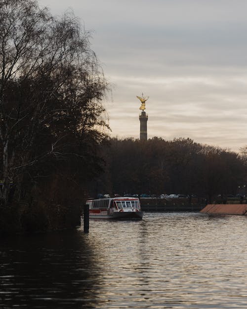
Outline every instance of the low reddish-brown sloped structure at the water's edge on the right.
<svg viewBox="0 0 247 309"><path fill-rule="evenodd" d="M247 204L208 204L200 211L200 213L247 216Z"/></svg>

